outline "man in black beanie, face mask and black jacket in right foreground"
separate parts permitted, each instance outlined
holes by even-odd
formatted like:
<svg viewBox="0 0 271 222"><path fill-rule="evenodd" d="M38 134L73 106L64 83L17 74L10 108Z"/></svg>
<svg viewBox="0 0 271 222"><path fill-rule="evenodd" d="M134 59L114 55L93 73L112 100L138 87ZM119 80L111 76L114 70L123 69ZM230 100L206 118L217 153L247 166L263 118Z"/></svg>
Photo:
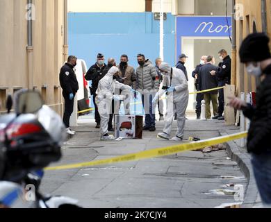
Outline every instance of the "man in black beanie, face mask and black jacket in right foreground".
<svg viewBox="0 0 271 222"><path fill-rule="evenodd" d="M264 33L249 35L240 47L240 61L247 73L265 79L256 92L256 107L240 99L231 99L230 105L243 110L251 120L247 137L247 151L252 153L252 166L263 203L271 205L271 54L269 38Z"/></svg>

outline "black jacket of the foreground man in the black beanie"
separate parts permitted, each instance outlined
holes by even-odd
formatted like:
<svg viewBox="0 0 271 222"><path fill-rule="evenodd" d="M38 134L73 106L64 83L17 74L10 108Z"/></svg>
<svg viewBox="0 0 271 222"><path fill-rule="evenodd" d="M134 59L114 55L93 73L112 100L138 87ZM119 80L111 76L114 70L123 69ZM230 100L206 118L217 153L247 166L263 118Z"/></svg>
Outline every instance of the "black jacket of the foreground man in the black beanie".
<svg viewBox="0 0 271 222"><path fill-rule="evenodd" d="M261 154L271 151L271 65L264 71L265 80L257 88L256 107L243 108L245 117L251 120L247 137L247 151Z"/></svg>

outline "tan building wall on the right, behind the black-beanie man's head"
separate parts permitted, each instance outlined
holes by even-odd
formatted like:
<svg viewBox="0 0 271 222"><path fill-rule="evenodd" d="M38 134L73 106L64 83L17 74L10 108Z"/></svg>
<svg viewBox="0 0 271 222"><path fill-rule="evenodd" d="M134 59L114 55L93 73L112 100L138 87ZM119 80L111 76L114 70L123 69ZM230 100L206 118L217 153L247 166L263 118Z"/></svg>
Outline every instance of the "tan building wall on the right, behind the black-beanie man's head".
<svg viewBox="0 0 271 222"><path fill-rule="evenodd" d="M266 13L266 19L263 17L264 13ZM232 71L232 85L236 85L237 95L240 95L240 92L256 92L256 87L261 81L261 79L247 75L245 66L240 63L238 51L240 44L249 33L262 31L268 33L271 38L271 1L236 0L237 53L234 58L236 60L236 69Z"/></svg>

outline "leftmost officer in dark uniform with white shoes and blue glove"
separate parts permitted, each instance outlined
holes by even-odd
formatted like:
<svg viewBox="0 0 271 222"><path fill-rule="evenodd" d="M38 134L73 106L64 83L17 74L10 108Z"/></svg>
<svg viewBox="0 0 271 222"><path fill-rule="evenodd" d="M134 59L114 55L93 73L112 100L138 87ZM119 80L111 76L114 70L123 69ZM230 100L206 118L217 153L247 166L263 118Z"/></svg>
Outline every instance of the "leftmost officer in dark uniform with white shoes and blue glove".
<svg viewBox="0 0 271 222"><path fill-rule="evenodd" d="M69 118L74 112L74 96L79 89L79 85L74 73L77 58L69 56L67 63L60 69L59 80L60 86L63 89L63 97L65 99L65 112L63 115L63 123L67 128L67 134L74 135L75 132L69 128Z"/></svg>

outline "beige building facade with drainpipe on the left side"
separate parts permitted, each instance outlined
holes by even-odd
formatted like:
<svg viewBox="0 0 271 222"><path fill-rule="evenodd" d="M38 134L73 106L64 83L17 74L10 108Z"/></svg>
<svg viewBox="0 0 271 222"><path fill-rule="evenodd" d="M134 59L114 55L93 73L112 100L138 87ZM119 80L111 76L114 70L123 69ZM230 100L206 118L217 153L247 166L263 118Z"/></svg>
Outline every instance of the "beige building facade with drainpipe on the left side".
<svg viewBox="0 0 271 222"><path fill-rule="evenodd" d="M58 74L67 54L64 12L65 0L0 1L1 113L6 96L23 88L35 88L63 112Z"/></svg>

